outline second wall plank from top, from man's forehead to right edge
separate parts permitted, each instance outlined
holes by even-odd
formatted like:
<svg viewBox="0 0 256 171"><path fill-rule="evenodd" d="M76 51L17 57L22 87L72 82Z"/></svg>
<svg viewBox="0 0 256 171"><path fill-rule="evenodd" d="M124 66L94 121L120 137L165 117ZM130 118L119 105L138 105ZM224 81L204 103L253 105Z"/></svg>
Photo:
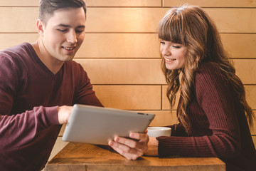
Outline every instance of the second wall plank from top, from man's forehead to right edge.
<svg viewBox="0 0 256 171"><path fill-rule="evenodd" d="M96 8L88 10L87 31L156 32L160 19L169 9ZM220 32L255 33L256 9L205 9ZM99 15L102 14L102 15ZM103 15L105 14L105 15ZM129 15L127 15L129 14ZM225 15L223 15L225 14ZM92 20L93 19L93 20ZM113 20L114 19L114 20ZM99 24L100 23L100 24ZM96 29L96 30L95 30Z"/></svg>

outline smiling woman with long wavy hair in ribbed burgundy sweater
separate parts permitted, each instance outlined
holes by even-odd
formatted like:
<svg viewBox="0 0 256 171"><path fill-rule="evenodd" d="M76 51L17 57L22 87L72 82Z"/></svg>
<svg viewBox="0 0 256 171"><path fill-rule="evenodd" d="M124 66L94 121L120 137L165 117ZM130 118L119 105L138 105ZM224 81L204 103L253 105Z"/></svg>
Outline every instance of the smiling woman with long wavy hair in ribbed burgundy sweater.
<svg viewBox="0 0 256 171"><path fill-rule="evenodd" d="M162 69L173 108L171 137L149 138L145 155L219 157L227 170L256 170L255 117L213 21L198 6L171 9L159 24Z"/></svg>

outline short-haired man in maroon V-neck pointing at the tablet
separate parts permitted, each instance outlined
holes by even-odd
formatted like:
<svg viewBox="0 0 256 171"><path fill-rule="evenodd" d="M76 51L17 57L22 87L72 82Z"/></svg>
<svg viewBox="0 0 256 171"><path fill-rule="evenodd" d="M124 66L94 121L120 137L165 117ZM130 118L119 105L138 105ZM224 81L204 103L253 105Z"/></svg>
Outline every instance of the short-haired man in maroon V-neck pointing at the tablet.
<svg viewBox="0 0 256 171"><path fill-rule="evenodd" d="M0 52L0 170L42 170L75 103L102 106L72 59L85 36L82 0L41 0L39 38ZM110 145L128 159L147 148L145 134Z"/></svg>

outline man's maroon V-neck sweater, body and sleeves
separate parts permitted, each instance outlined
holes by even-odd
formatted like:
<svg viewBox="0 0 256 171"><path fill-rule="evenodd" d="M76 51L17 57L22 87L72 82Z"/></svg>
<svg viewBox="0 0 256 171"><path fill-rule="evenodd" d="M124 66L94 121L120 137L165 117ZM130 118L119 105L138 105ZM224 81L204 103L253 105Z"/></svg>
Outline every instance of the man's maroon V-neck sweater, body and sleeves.
<svg viewBox="0 0 256 171"><path fill-rule="evenodd" d="M0 63L0 170L42 170L61 128L58 105L102 104L74 61L54 75L23 43L1 51Z"/></svg>

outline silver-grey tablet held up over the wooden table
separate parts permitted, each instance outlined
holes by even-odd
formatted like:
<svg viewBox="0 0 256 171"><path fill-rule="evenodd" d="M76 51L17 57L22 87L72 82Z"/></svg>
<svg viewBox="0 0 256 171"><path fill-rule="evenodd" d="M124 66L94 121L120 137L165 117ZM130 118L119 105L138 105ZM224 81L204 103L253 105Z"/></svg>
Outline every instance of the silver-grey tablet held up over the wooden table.
<svg viewBox="0 0 256 171"><path fill-rule="evenodd" d="M154 114L130 110L74 105L63 133L63 141L107 145L115 136L144 133Z"/></svg>

